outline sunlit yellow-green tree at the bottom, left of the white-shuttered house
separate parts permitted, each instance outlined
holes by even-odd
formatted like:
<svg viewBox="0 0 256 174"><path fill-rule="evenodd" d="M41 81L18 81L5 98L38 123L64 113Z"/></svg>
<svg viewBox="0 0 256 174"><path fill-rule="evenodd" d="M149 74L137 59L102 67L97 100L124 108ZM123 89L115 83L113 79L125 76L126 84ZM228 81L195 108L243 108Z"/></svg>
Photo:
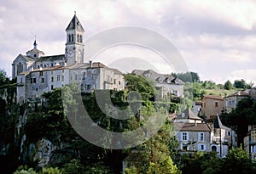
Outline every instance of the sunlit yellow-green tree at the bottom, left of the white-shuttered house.
<svg viewBox="0 0 256 174"><path fill-rule="evenodd" d="M172 138L174 134L171 130L170 123L166 121L157 134L138 146L138 159L134 162L134 166L125 170L125 173L135 173L135 171L148 174L179 173L170 156L172 149L177 147L177 141Z"/></svg>

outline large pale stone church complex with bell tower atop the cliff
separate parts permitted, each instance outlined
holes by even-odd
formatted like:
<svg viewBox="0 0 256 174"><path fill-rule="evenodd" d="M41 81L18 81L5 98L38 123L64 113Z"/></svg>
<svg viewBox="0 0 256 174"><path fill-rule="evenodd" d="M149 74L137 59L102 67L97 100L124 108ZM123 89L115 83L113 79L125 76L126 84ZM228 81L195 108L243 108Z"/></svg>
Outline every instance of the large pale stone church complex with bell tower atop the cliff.
<svg viewBox="0 0 256 174"><path fill-rule="evenodd" d="M17 102L35 100L55 87L79 83L81 91L123 90L123 74L100 62L84 62L84 27L76 14L67 25L65 54L45 56L35 40L32 50L19 54L12 64L17 79Z"/></svg>

